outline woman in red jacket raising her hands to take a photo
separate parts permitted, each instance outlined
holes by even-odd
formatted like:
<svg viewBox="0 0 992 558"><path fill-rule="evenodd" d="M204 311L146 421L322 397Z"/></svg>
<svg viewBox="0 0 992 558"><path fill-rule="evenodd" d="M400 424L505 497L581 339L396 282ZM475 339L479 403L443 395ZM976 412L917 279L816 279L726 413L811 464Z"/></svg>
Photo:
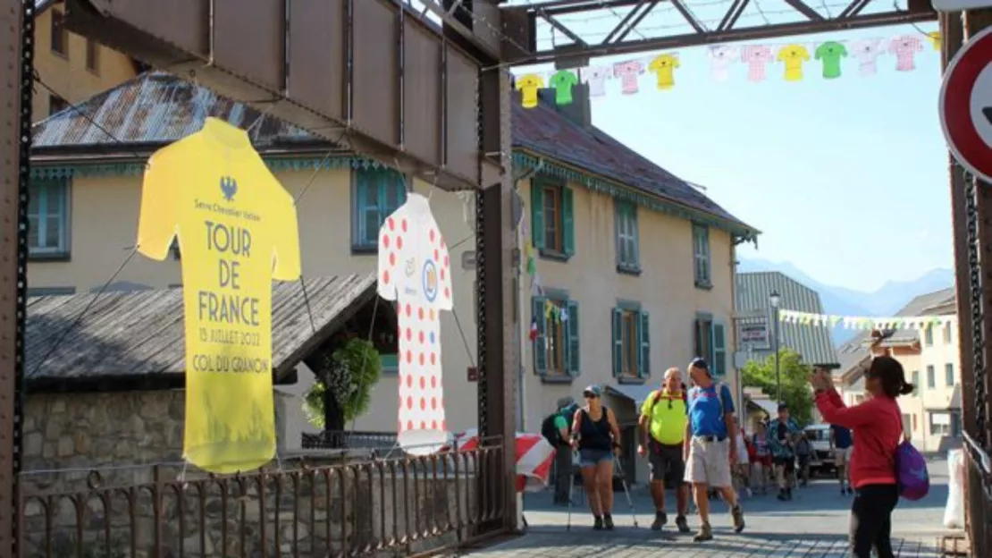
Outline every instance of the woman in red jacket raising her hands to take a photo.
<svg viewBox="0 0 992 558"><path fill-rule="evenodd" d="M913 393L903 365L892 356L876 356L865 372L865 402L845 407L833 388L830 372L817 369L810 378L816 408L823 420L854 432L851 457L851 550L857 558L892 558L892 511L899 501L896 484L896 448L903 441L903 414L896 398Z"/></svg>

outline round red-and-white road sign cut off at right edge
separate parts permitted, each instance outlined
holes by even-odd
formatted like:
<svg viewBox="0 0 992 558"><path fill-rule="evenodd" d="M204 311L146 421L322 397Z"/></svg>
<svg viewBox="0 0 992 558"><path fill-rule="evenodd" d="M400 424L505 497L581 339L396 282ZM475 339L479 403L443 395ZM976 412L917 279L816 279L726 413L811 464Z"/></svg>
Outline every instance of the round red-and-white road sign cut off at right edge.
<svg viewBox="0 0 992 558"><path fill-rule="evenodd" d="M947 66L938 106L954 159L992 182L992 28L969 39Z"/></svg>

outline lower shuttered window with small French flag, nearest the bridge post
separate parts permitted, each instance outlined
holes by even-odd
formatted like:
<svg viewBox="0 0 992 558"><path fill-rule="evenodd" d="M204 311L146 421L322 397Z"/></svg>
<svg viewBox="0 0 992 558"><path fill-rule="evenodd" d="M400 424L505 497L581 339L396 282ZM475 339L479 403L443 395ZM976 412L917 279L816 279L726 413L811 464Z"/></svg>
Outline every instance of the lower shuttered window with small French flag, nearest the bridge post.
<svg viewBox="0 0 992 558"><path fill-rule="evenodd" d="M534 371L544 379L571 380L579 373L578 303L566 295L531 299Z"/></svg>

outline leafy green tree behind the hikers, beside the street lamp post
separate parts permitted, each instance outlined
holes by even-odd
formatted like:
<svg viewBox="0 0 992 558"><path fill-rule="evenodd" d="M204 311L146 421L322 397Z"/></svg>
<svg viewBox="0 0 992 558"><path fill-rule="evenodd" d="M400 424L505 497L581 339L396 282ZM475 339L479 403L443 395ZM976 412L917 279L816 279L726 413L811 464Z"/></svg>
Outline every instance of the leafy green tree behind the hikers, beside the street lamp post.
<svg viewBox="0 0 992 558"><path fill-rule="evenodd" d="M803 362L792 349L779 350L779 370L782 377L782 400L789 405L789 414L800 426L812 422L812 390L809 374L812 366ZM757 387L771 398L776 397L775 354L764 361L751 360L741 372L745 387ZM773 417L774 418L774 417Z"/></svg>

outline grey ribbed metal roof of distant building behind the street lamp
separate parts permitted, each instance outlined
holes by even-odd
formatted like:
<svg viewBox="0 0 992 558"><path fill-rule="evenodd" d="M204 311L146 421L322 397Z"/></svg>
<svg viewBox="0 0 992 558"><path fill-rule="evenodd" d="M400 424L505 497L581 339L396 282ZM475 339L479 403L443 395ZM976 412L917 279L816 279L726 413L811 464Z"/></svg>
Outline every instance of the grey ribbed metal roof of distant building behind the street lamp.
<svg viewBox="0 0 992 558"><path fill-rule="evenodd" d="M736 309L738 314L766 314L773 316L768 296L778 291L780 308L822 314L819 294L778 271L757 271L737 274ZM772 326L774 332L774 325ZM774 334L773 334L774 335ZM830 329L821 324L779 323L779 336L784 349L793 349L810 364L836 366L840 363L830 339Z"/></svg>

